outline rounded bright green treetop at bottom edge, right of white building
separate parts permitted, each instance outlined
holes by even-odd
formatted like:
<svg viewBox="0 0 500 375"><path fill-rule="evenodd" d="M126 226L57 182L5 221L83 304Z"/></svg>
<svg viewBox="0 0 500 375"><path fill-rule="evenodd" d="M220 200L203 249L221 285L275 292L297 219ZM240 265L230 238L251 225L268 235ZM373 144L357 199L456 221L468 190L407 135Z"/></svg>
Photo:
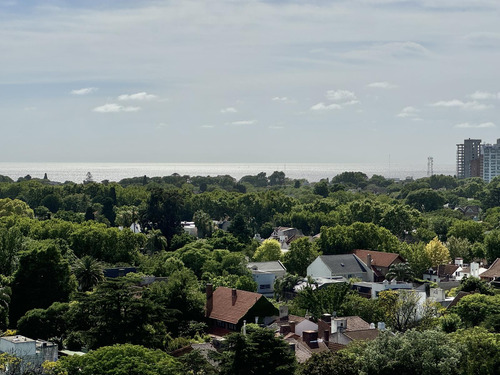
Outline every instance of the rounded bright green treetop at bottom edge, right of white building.
<svg viewBox="0 0 500 375"><path fill-rule="evenodd" d="M139 345L113 345L93 350L84 356L62 357L53 374L69 375L181 375L181 365L161 350ZM56 372L59 371L59 372Z"/></svg>

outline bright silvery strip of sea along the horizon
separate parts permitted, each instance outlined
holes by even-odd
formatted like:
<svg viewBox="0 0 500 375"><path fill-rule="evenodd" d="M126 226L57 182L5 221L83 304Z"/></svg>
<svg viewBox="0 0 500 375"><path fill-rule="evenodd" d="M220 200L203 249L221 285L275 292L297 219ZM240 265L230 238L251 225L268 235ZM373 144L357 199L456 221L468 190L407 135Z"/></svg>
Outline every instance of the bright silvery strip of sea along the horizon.
<svg viewBox="0 0 500 375"><path fill-rule="evenodd" d="M94 181L120 181L131 177L169 176L173 173L189 176L230 175L239 180L246 175L265 172L270 175L274 171L285 172L286 177L306 179L317 182L324 178L331 179L345 171L363 172L368 177L374 174L386 178L404 179L406 177L421 178L427 176L425 165L377 163L42 163L42 162L0 162L0 175L9 176L13 180L30 175L43 178L47 173L51 181L82 182L87 172L92 173ZM434 174L455 175L455 165L434 166Z"/></svg>

